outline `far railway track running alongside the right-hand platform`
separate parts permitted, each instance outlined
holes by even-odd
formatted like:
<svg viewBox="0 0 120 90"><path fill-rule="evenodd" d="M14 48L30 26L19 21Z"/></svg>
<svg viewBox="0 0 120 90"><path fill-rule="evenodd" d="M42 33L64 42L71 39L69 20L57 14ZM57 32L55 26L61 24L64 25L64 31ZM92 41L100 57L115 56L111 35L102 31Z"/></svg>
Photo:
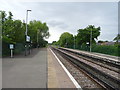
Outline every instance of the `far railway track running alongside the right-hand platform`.
<svg viewBox="0 0 120 90"><path fill-rule="evenodd" d="M62 50L64 50L64 49L62 49ZM81 61L83 61L91 66L94 66L94 67L98 68L99 70L106 72L106 73L110 74L112 77L115 77L120 80L120 77L118 76L120 74L120 69L110 66L110 65L107 65L107 63L101 63L96 60L93 60L93 59L90 59L87 57L83 57L83 56L80 56L78 54L75 54L75 53L72 53L69 51L65 51L65 52L67 52L73 56L76 56L78 58L81 58Z"/></svg>

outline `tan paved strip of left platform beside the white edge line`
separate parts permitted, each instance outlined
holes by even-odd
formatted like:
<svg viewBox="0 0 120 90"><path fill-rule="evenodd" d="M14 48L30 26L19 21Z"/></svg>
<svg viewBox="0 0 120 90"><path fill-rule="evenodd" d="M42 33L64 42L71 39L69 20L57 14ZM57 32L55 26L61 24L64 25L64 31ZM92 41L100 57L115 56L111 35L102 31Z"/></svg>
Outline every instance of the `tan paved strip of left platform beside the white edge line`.
<svg viewBox="0 0 120 90"><path fill-rule="evenodd" d="M48 48L48 88L76 88L53 53Z"/></svg>

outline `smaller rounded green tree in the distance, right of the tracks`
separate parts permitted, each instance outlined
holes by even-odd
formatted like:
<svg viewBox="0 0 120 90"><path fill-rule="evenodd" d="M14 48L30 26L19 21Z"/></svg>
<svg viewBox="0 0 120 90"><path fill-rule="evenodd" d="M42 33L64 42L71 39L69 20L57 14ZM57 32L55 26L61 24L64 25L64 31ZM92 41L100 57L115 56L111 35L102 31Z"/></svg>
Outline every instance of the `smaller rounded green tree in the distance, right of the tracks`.
<svg viewBox="0 0 120 90"><path fill-rule="evenodd" d="M73 48L73 43L74 43L74 38L73 35L68 33L68 32L64 32L59 39L59 44L62 47L68 47L68 48Z"/></svg>

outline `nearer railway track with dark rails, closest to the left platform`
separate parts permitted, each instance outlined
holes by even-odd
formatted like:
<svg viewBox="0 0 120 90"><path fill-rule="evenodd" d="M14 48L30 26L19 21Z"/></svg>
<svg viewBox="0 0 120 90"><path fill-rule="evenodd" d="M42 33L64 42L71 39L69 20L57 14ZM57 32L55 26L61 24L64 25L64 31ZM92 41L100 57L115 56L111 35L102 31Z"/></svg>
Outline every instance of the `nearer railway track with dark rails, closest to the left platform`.
<svg viewBox="0 0 120 90"><path fill-rule="evenodd" d="M113 77L110 74L101 71L95 63L89 62L87 60L83 60L80 57L69 53L68 51L52 48L53 50L57 51L62 57L70 60L78 68L82 69L84 72L89 74L92 78L100 82L103 86L106 87L108 90L119 90L120 89L120 80L119 78ZM93 66L94 65L94 66ZM101 66L102 67L102 66ZM105 68L105 67L104 67ZM113 73L113 72L112 72ZM116 72L117 73L117 72Z"/></svg>

